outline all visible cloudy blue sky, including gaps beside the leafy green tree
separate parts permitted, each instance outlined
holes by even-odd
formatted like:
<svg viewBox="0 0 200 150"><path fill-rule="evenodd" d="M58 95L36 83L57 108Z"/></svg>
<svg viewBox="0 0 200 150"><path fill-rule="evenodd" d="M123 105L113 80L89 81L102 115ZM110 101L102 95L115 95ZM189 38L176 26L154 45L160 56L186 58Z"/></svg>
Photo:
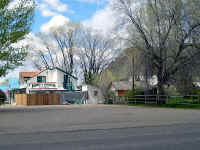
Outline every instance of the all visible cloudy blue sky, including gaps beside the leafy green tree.
<svg viewBox="0 0 200 150"><path fill-rule="evenodd" d="M39 49L41 47L36 34L48 34L52 27L59 27L70 21L80 22L102 33L110 33L117 21L110 6L111 1L113 0L36 0L32 30L24 42L38 45ZM30 37L34 40L30 40ZM23 66L10 71L5 78L18 78L19 72L25 71L35 71L29 58Z"/></svg>

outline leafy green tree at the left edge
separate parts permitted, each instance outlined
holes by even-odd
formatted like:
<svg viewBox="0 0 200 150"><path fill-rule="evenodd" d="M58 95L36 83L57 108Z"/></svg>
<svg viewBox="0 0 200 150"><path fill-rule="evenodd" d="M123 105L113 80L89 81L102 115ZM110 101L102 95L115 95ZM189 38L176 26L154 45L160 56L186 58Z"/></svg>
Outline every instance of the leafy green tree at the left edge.
<svg viewBox="0 0 200 150"><path fill-rule="evenodd" d="M30 32L35 9L34 0L0 1L0 77L22 65L27 51L17 42Z"/></svg>

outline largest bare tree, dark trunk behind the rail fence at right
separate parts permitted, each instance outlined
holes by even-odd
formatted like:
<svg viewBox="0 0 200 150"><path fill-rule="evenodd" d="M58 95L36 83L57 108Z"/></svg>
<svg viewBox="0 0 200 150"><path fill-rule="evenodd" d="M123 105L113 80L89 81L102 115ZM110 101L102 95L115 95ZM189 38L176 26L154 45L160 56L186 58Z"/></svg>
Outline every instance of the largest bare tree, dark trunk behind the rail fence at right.
<svg viewBox="0 0 200 150"><path fill-rule="evenodd" d="M199 0L115 1L115 10L132 31L129 43L142 51L158 78L159 94L183 66L200 56L199 7Z"/></svg>

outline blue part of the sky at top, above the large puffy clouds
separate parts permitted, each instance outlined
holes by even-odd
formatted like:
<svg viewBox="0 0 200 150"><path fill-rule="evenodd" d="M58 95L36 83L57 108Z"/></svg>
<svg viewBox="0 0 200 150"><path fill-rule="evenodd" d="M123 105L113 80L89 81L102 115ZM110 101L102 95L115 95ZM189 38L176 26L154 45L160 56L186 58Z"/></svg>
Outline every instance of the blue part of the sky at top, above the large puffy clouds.
<svg viewBox="0 0 200 150"><path fill-rule="evenodd" d="M37 0L32 32L40 32L43 24L53 17L62 15L73 22L82 22L91 19L96 12L103 10L107 0ZM46 12L45 12L46 11ZM49 13L47 13L49 11ZM46 14L45 14L46 13ZM52 13L52 14L51 14ZM45 14L45 15L44 15Z"/></svg>

